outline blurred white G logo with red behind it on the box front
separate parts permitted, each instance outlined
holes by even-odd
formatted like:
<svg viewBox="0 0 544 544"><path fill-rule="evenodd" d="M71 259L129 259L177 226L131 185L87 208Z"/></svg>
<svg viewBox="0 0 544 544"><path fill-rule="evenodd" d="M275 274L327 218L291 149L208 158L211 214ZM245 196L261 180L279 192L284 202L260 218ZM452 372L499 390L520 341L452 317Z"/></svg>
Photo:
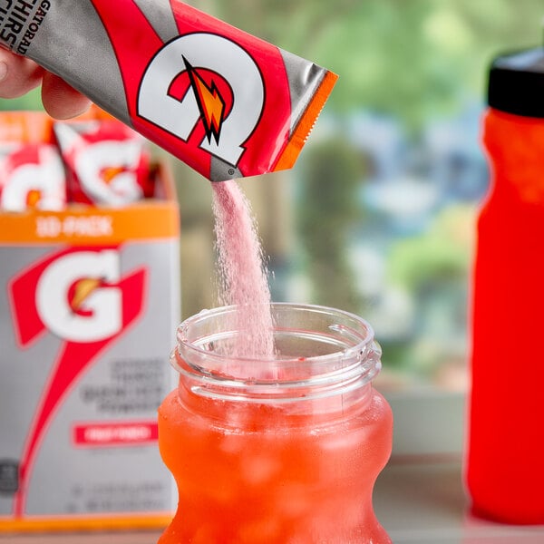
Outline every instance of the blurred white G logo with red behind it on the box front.
<svg viewBox="0 0 544 544"><path fill-rule="evenodd" d="M67 343L120 335L143 306L146 270L121 277L117 248L70 248L24 270L9 291L23 347L49 331Z"/></svg>

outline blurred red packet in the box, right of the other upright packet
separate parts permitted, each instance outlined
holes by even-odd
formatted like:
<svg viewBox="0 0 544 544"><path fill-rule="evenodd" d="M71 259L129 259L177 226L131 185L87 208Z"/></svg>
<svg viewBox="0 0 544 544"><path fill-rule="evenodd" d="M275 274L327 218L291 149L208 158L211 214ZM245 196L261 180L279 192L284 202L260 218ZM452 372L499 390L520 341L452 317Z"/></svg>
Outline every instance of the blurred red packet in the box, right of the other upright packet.
<svg viewBox="0 0 544 544"><path fill-rule="evenodd" d="M147 141L121 121L55 122L53 130L71 202L125 206L153 196Z"/></svg>

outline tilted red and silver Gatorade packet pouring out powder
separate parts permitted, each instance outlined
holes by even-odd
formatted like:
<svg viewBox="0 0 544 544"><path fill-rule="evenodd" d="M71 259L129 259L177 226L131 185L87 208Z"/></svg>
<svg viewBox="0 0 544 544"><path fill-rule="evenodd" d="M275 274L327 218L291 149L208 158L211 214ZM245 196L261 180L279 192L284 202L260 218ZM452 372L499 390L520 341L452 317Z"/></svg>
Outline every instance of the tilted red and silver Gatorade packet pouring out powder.
<svg viewBox="0 0 544 544"><path fill-rule="evenodd" d="M0 43L212 181L291 168L336 81L179 0L0 0Z"/></svg>

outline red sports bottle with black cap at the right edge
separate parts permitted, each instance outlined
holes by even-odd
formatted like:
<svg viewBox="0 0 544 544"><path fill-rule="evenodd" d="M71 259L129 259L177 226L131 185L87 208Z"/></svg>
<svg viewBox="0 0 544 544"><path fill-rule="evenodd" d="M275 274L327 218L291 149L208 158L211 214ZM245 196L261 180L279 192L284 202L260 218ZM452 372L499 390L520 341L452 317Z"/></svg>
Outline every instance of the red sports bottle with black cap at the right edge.
<svg viewBox="0 0 544 544"><path fill-rule="evenodd" d="M544 523L544 49L497 58L488 98L467 487L482 517Z"/></svg>

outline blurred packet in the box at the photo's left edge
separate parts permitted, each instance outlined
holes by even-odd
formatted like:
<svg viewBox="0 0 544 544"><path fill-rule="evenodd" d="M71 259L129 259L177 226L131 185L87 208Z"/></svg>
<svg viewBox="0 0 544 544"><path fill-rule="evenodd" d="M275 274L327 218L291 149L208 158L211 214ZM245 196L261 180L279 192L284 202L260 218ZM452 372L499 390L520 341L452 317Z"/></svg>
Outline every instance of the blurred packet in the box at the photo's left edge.
<svg viewBox="0 0 544 544"><path fill-rule="evenodd" d="M0 113L0 209L66 206L63 161L51 120L39 112Z"/></svg>

